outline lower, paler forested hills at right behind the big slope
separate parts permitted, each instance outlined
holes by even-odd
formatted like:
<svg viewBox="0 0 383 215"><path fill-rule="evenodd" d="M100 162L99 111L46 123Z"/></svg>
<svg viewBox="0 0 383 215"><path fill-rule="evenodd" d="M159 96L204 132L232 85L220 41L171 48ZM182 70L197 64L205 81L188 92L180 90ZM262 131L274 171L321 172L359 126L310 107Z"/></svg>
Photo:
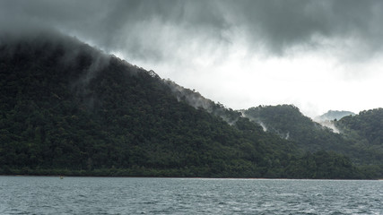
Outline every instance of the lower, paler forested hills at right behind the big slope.
<svg viewBox="0 0 383 215"><path fill-rule="evenodd" d="M371 176L383 176L381 108L335 121L341 133L333 133L313 122L303 116L298 107L291 105L251 107L243 113L258 124L262 123L268 132L288 138L301 149L336 151L352 159Z"/></svg>

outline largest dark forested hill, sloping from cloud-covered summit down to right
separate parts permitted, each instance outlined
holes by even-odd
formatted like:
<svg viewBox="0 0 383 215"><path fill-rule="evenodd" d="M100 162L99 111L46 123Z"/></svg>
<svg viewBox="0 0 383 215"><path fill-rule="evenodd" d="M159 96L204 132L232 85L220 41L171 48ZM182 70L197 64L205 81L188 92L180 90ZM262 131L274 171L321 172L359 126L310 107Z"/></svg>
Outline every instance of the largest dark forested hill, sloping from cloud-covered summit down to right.
<svg viewBox="0 0 383 215"><path fill-rule="evenodd" d="M370 177L248 118L229 125L152 71L76 39L0 36L0 174Z"/></svg>

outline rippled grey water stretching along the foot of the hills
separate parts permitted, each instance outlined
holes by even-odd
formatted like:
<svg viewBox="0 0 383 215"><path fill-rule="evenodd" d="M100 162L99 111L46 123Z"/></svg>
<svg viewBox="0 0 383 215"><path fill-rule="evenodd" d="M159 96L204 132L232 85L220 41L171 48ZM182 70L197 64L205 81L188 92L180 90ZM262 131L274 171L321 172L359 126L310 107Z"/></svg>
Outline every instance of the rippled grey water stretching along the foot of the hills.
<svg viewBox="0 0 383 215"><path fill-rule="evenodd" d="M383 181L0 176L0 214L383 214Z"/></svg>

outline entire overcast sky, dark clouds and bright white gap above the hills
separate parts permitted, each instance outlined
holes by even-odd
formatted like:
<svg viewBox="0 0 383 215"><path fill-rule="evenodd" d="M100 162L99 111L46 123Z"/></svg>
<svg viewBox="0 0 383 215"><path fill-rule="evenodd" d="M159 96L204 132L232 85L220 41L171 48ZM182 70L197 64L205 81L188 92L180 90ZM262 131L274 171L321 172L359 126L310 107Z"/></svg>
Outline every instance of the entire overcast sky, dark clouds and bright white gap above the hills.
<svg viewBox="0 0 383 215"><path fill-rule="evenodd" d="M380 0L0 0L0 33L53 28L226 107L383 107Z"/></svg>

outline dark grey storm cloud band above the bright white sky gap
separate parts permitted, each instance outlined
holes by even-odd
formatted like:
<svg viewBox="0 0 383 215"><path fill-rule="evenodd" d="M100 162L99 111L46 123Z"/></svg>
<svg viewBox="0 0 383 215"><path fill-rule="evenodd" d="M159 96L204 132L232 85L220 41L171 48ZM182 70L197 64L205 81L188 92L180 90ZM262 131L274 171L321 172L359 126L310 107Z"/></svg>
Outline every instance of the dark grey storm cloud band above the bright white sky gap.
<svg viewBox="0 0 383 215"><path fill-rule="evenodd" d="M193 39L202 49L228 46L238 30L252 50L278 56L333 39L349 39L349 48L375 53L383 42L379 0L3 0L0 18L3 26L53 26L107 51L149 60L176 57L176 49Z"/></svg>

